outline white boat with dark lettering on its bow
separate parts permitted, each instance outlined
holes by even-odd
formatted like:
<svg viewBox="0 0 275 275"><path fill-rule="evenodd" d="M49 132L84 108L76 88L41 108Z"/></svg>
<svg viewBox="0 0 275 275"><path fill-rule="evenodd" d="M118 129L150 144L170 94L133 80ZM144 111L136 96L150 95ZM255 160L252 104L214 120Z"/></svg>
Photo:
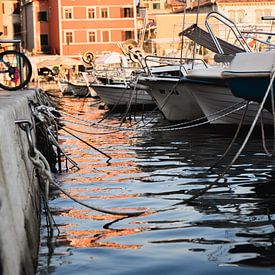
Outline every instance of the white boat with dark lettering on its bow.
<svg viewBox="0 0 275 275"><path fill-rule="evenodd" d="M137 77L138 83L150 88L148 93L169 121L190 121L203 116L193 95L184 86L178 85L193 62L194 66L206 66L201 59L147 56L145 65L148 75ZM154 63L158 65L153 66Z"/></svg>

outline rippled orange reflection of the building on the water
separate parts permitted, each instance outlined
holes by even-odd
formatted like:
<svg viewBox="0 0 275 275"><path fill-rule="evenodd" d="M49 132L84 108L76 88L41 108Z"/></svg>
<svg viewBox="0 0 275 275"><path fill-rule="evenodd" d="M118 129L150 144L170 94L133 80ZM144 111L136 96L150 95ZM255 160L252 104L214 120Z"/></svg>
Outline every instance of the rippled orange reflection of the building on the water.
<svg viewBox="0 0 275 275"><path fill-rule="evenodd" d="M86 102L85 102L86 101ZM64 106L66 106L66 112L72 113L75 112L83 112L83 115L79 115L80 119L84 119L89 121L90 123L99 121L102 118L102 115L106 111L101 111L96 109L96 107L90 107L88 103L91 103L92 100L87 101L85 100L73 100L71 99L65 100ZM84 113L85 112L85 113ZM76 115L77 116L77 115ZM71 118L69 116L64 116L68 120L74 120L79 122L77 119ZM85 123L85 122L83 122ZM109 125L118 125L119 120L116 118L107 119L102 122L103 124ZM132 175L140 173L140 169L136 166L136 163L132 161L135 158L133 155L132 150L127 149L117 149L120 148L120 145L124 144L131 144L133 141L131 140L132 133L125 132L116 132L112 134L104 134L104 135L96 135L93 133L104 133L110 132L113 130L105 130L102 128L96 128L92 126L83 126L78 124L66 123L67 126L73 128L75 130L86 132L86 133L78 133L77 131L73 131L69 129L70 132L79 136L83 140L89 142L91 145L95 146L96 148L100 149L104 153L110 155L113 159L110 163L104 162L106 156L100 154L100 152L95 151L92 148L89 148L88 145L82 143L80 140L76 138L67 138L69 136L68 133L64 131L60 131L61 135L65 135L66 137L62 136L61 140L65 147L65 151L70 155L70 157L79 163L80 170L74 172L74 174L70 175L69 178L64 179L66 183L101 183L101 182L125 182L125 186L127 186L127 178L133 178ZM123 124L123 127L126 127ZM91 134L89 134L91 133ZM116 160L119 161L116 161ZM107 159L106 159L107 160ZM111 169L108 169L111 167ZM72 177L73 176L73 177ZM123 176L123 177L122 177ZM73 186L73 185L72 185ZM95 195L96 192L106 192L110 191L111 189L115 190L124 190L123 185L115 188L99 188L95 186L87 187L87 184L84 188L68 188L68 191L74 198L79 200L84 199L128 199L128 198L135 198L138 197L139 194L100 194ZM91 195L90 195L91 194ZM60 196L65 197L63 194ZM110 209L111 210L111 209ZM118 211L116 209L116 211ZM137 211L137 208L127 210L123 208L121 212L131 212ZM141 210L139 210L141 211ZM123 218L123 216L119 215L108 215L108 214L97 214L92 215L91 210L82 210L82 209L71 209L68 211L63 211L60 215L64 217L70 217L78 220L81 223L81 220L94 220L94 221L113 221ZM144 215L150 215L150 213L146 213ZM76 223L78 223L76 222ZM74 225L76 226L76 225ZM102 230L69 230L67 227L62 227L64 232L62 233L62 239L66 239L68 243L73 247L108 247L108 248L116 248L116 249L140 249L142 245L136 244L123 244L118 242L110 242L106 241L108 238L112 237L127 237L129 235L138 234L146 230L144 227L138 228L121 228L121 229L110 229L110 228L103 228ZM128 239L127 239L128 240Z"/></svg>

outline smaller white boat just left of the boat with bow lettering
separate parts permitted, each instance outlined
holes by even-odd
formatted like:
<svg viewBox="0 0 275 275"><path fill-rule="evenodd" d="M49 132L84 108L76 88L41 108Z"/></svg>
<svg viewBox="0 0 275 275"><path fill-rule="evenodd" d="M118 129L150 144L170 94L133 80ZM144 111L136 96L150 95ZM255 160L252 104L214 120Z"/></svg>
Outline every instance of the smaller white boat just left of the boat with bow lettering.
<svg viewBox="0 0 275 275"><path fill-rule="evenodd" d="M147 93L147 87L128 82L91 83L90 86L108 107L125 106L155 106L152 97Z"/></svg>

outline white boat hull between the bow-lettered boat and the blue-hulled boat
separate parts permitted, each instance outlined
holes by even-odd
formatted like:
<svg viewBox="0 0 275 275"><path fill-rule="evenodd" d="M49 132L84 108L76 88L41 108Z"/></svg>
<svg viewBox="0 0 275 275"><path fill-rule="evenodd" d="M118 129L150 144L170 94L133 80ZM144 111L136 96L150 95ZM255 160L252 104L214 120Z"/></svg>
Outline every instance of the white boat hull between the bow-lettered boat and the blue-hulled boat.
<svg viewBox="0 0 275 275"><path fill-rule="evenodd" d="M179 86L185 87L193 94L210 123L238 124L242 118L244 109L237 109L242 105L242 102L243 105L245 103L243 99L235 97L232 94L229 86L222 77L223 70L221 67L194 69L188 73L187 77L181 79ZM233 109L237 111L222 116L227 112L233 111ZM258 103L251 103L243 124L251 124L258 109ZM272 124L272 115L266 110L263 112L264 122ZM215 119L217 117L220 118Z"/></svg>

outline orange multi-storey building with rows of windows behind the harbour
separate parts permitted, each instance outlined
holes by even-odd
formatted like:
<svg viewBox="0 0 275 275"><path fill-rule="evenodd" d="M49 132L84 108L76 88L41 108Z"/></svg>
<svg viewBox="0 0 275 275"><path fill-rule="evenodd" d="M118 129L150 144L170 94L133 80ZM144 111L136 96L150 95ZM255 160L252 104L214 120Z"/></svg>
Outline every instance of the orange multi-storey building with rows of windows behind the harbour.
<svg viewBox="0 0 275 275"><path fill-rule="evenodd" d="M25 0L22 12L25 47L36 53L102 55L137 38L135 0Z"/></svg>

